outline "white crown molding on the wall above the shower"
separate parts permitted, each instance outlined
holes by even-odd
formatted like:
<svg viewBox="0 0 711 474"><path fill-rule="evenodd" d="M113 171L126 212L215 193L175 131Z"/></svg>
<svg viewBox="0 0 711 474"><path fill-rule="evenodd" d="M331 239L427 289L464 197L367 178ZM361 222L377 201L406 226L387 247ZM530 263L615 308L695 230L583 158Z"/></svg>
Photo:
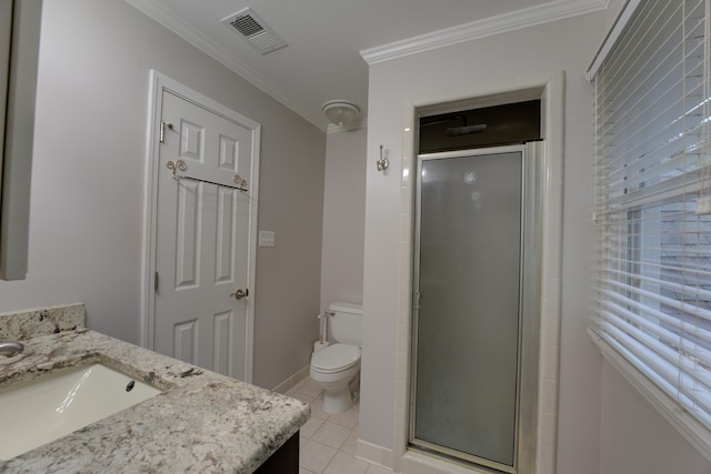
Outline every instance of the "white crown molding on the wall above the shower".
<svg viewBox="0 0 711 474"><path fill-rule="evenodd" d="M604 10L610 0L554 0L511 13L499 14L471 23L433 31L402 41L362 50L360 56L368 64L377 64L433 49L478 40L571 17Z"/></svg>

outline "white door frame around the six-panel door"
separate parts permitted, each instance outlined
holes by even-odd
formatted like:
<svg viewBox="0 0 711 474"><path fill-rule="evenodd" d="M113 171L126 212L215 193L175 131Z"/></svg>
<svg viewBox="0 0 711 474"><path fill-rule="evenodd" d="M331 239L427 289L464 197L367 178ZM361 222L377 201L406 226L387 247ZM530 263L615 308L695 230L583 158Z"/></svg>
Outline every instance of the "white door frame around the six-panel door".
<svg viewBox="0 0 711 474"><path fill-rule="evenodd" d="M160 124L163 92L168 91L232 122L239 123L252 133L251 172L249 177L249 239L248 239L248 288L250 297L246 307L246 354L244 382L252 382L253 341L254 341L254 301L257 295L257 212L259 195L259 157L261 125L232 109L197 92L187 85L150 70L148 97L148 128L146 138L146 182L143 199L143 249L141 275L141 346L153 349L153 326L156 321L156 245L158 216L158 173L160 158Z"/></svg>

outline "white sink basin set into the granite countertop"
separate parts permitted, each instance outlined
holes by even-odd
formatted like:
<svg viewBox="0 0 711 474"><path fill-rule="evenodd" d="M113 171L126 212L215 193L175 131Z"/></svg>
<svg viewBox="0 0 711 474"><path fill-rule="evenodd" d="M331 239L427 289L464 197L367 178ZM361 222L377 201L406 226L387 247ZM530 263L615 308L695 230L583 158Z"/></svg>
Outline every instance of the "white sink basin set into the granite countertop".
<svg viewBox="0 0 711 474"><path fill-rule="evenodd" d="M0 430L0 461L159 393L151 385L98 363L10 385L0 390L0 423L4 426Z"/></svg>

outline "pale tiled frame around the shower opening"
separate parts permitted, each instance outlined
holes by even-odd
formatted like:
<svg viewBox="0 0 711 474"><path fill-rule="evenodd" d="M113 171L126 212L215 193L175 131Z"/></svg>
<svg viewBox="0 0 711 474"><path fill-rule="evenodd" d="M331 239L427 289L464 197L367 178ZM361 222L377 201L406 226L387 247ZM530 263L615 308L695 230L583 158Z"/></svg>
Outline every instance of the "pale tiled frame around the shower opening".
<svg viewBox="0 0 711 474"><path fill-rule="evenodd" d="M555 456L558 446L558 392L559 392L559 359L561 331L561 294L562 294L562 218L563 218L563 162L564 162L564 104L565 104L565 71L524 73L500 78L485 82L472 82L447 90L422 92L417 95L402 98L401 121L397 128L402 138L401 159L401 208L400 223L412 232L413 190L410 177L417 150L418 115L423 109L442 108L441 113L451 111L454 104L459 110L495 105L502 102L518 100L541 99L541 132L545 141L540 159L542 162L542 202L543 211L540 216L542 225L541 254L541 301L540 301L540 352L539 352L539 399L537 406L538 437L535 440L535 463L540 474L555 472ZM370 153L369 153L370 157ZM409 234L411 235L411 234ZM399 260L399 291L394 295L398 300L395 325L398 336L393 350L393 366L395 373L394 410L392 414L391 450L359 441L358 452L367 460L379 460L388 467L399 472L411 466L427 465L447 470L449 463L420 455L408 448L408 410L409 410L409 355L410 354L410 320L411 320L411 282L412 243L408 236L400 240L402 252ZM377 305L375 305L377 306ZM368 307L365 307L368 309ZM397 357L395 357L397 355ZM385 460L384 462L382 460ZM413 467L414 468L414 467Z"/></svg>

